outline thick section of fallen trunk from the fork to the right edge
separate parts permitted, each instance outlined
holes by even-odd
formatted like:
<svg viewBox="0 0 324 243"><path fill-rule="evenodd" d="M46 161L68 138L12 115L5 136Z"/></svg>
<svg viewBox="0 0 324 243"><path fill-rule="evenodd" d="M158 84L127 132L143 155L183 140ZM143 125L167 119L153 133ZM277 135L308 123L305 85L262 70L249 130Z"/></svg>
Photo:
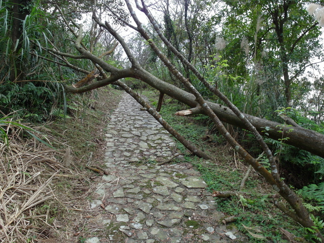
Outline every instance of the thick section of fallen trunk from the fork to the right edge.
<svg viewBox="0 0 324 243"><path fill-rule="evenodd" d="M140 70L137 70L137 73L139 74ZM144 69L137 77L160 92L163 92L166 95L169 95L176 100L193 107L195 113L204 113L203 109L199 108L198 103L196 103L194 95L158 79ZM228 107L213 102L207 102L207 104L221 121L239 128L248 129ZM263 134L265 128L267 128L266 133L268 134L267 136L269 138L275 140L285 139L281 141L324 158L323 134L316 133L308 129L276 123L275 121L263 119L249 114L244 115L259 133Z"/></svg>

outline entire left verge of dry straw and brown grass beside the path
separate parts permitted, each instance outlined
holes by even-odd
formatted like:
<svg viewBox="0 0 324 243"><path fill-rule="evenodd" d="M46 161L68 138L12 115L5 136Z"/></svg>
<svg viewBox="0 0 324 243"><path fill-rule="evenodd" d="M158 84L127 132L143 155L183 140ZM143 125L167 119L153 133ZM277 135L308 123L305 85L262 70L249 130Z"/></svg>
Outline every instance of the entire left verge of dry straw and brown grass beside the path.
<svg viewBox="0 0 324 243"><path fill-rule="evenodd" d="M78 114L70 114L72 118L34 128L43 133L34 135L59 150L0 122L9 138L7 146L0 137L0 243L72 243L89 237L86 222L92 217L89 204L98 175L85 166L89 154L102 166L104 130L119 96L120 92L99 89L91 99L96 107L73 103Z"/></svg>

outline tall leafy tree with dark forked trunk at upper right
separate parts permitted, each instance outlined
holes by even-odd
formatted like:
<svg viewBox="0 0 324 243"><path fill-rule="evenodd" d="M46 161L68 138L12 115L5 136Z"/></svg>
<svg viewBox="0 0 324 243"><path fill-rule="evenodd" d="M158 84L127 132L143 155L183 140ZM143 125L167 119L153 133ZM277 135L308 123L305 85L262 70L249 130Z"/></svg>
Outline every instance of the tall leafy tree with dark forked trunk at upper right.
<svg viewBox="0 0 324 243"><path fill-rule="evenodd" d="M275 74L272 78L278 79L278 85L283 88L280 88L281 94L286 100L280 105L292 106L294 89L298 89L302 82L305 68L312 65L315 57L322 59L318 24L305 14L302 2L297 0L224 2L228 6L224 37L236 46L243 36L248 37L252 47L250 60L261 62L267 67L268 74ZM258 19L261 26L256 31L260 24ZM239 63L230 53L228 55Z"/></svg>

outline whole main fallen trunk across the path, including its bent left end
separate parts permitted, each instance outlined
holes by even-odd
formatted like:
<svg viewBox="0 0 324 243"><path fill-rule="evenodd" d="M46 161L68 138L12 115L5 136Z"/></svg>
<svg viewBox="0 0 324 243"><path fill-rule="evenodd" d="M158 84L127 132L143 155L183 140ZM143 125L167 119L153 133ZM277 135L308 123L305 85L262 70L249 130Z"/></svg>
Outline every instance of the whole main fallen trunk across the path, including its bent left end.
<svg viewBox="0 0 324 243"><path fill-rule="evenodd" d="M103 69L109 71L110 67L105 68L105 64L100 64L103 67ZM157 78L156 76L152 75L151 73L147 72L141 67L114 70L113 74L111 74L108 78L104 80L99 80L98 82L81 88L65 86L65 89L67 93L83 93L89 90L106 86L108 84L113 84L114 81L124 77L134 77L142 80L144 83L160 91L161 93L164 93L188 105L189 107L192 107L193 109L191 110L194 114L204 113L203 109L201 109L198 103L195 101L195 97L193 94L188 93L174 85L164 82L163 80ZM228 107L213 102L207 102L207 104L215 112L215 114L219 117L221 121L233 125L235 127L247 129L247 127L242 123L242 121ZM308 129L291 127L288 125L285 126L283 124L276 123L275 121L263 119L249 114L244 115L248 118L250 123L258 130L260 134L263 134L265 128L267 128L267 137L275 140L284 139L281 141L285 141L286 144L295 146L300 149L304 149L324 158L323 134L316 133Z"/></svg>

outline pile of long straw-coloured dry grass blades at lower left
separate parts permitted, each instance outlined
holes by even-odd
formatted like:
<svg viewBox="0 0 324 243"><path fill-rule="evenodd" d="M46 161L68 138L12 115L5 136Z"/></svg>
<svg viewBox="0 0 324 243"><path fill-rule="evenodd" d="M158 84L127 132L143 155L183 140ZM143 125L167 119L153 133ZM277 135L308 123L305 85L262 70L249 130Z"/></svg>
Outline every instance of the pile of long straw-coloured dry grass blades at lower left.
<svg viewBox="0 0 324 243"><path fill-rule="evenodd" d="M55 199L53 178L78 173L63 167L64 153L23 139L21 128L8 125L7 131L9 144L0 141L0 242L34 242L41 228L57 231L37 208Z"/></svg>

